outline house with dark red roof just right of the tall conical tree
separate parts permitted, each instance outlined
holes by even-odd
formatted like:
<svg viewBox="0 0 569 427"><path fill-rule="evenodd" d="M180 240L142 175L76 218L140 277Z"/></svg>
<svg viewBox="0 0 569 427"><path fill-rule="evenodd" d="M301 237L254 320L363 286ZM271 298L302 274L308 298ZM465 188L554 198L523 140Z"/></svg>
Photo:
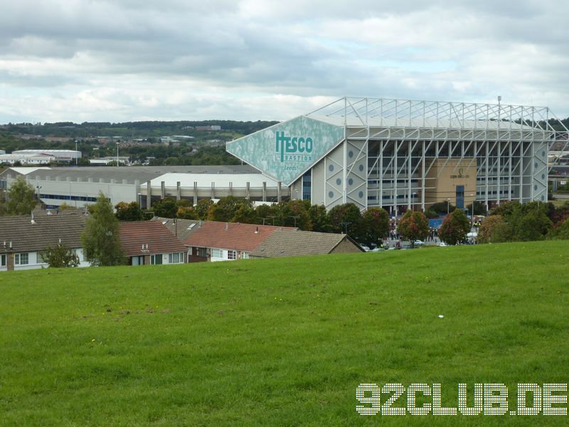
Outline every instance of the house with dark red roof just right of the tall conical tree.
<svg viewBox="0 0 569 427"><path fill-rule="evenodd" d="M123 222L120 240L129 265L186 262L186 247L159 221Z"/></svg>

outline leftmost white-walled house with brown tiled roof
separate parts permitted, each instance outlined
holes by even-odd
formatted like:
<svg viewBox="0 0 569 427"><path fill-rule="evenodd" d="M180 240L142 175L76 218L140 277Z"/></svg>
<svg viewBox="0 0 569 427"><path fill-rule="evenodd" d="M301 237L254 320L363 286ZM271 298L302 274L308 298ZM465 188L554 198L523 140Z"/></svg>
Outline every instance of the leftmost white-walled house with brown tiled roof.
<svg viewBox="0 0 569 427"><path fill-rule="evenodd" d="M33 211L31 215L0 217L0 271L29 270L48 267L41 252L61 243L78 255L80 267L87 267L83 258L81 232L85 215L80 211L52 214Z"/></svg>

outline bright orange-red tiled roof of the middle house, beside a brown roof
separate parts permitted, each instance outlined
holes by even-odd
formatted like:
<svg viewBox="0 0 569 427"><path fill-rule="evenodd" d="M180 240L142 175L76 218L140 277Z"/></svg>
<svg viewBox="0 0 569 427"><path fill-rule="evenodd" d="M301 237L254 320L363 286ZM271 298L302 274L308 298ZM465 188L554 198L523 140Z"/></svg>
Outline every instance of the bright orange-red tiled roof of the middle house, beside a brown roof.
<svg viewBox="0 0 569 427"><path fill-rule="evenodd" d="M268 236L278 230L294 231L291 227L256 226L255 224L203 221L184 241L186 246L198 248L234 249L252 251Z"/></svg>

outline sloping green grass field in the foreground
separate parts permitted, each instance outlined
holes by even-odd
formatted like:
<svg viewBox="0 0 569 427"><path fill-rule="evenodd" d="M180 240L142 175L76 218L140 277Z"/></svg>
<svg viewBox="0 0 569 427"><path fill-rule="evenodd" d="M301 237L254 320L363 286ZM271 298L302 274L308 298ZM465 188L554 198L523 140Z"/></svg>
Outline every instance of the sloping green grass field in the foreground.
<svg viewBox="0 0 569 427"><path fill-rule="evenodd" d="M547 241L1 273L0 424L565 425L364 417L356 387L441 383L456 407L458 383L504 383L515 408L517 383L566 384L568 258Z"/></svg>

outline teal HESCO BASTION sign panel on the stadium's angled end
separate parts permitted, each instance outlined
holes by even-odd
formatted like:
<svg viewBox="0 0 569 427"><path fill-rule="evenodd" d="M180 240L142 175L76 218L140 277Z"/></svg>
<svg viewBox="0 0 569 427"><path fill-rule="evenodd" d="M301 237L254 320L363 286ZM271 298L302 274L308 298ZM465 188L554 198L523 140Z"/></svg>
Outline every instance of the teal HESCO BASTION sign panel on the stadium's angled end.
<svg viewBox="0 0 569 427"><path fill-rule="evenodd" d="M344 128L301 116L228 142L227 152L289 186L344 139Z"/></svg>

